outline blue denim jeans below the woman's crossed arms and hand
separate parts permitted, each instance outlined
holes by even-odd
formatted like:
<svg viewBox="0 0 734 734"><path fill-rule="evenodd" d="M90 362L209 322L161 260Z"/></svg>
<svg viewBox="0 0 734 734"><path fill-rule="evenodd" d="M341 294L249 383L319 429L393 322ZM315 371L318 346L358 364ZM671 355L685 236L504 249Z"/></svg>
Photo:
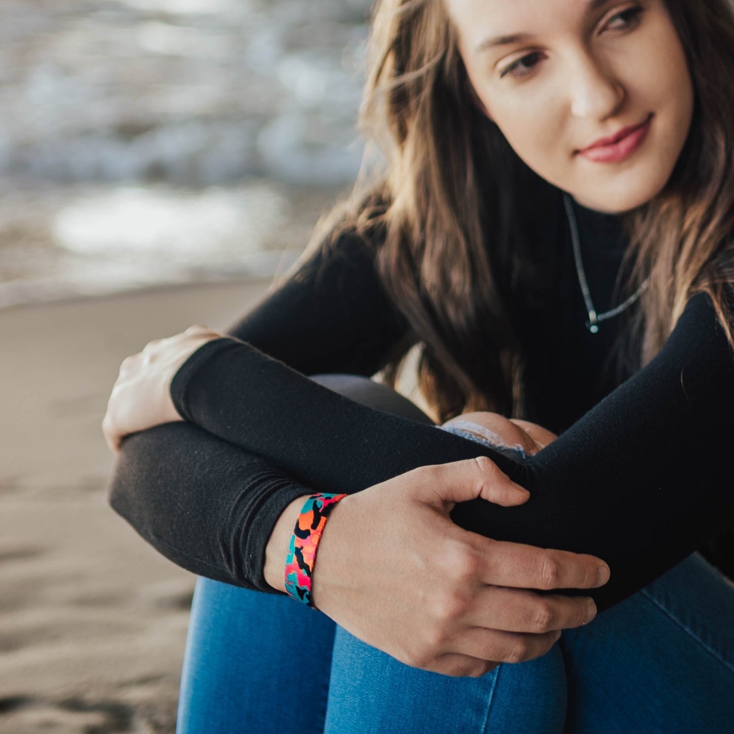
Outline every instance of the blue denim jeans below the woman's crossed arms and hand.
<svg viewBox="0 0 734 734"><path fill-rule="evenodd" d="M734 585L693 553L565 630L542 658L449 677L396 661L290 597L198 578L176 731L725 732L733 622Z"/></svg>

